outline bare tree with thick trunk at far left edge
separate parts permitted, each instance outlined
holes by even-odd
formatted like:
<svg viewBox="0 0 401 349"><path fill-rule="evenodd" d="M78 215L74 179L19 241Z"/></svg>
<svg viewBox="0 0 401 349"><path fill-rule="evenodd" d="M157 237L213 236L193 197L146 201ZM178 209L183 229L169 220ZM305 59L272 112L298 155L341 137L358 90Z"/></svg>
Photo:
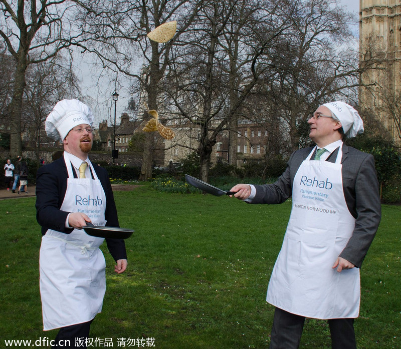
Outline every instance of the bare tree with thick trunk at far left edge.
<svg viewBox="0 0 401 349"><path fill-rule="evenodd" d="M16 69L8 110L11 154L17 156L22 150L21 115L27 68L30 64L47 61L70 45L63 30L63 17L68 6L64 0L43 0L40 3L36 0L0 0L0 9L0 37L14 58Z"/></svg>

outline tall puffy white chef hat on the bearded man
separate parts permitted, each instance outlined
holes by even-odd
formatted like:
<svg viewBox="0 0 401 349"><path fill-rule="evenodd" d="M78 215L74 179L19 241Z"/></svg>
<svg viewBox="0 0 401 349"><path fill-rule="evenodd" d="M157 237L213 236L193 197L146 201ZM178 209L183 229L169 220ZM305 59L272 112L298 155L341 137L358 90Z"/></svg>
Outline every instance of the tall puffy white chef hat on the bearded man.
<svg viewBox="0 0 401 349"><path fill-rule="evenodd" d="M45 123L46 133L56 141L62 142L70 130L81 124L93 125L91 109L77 99L63 99L48 115Z"/></svg>

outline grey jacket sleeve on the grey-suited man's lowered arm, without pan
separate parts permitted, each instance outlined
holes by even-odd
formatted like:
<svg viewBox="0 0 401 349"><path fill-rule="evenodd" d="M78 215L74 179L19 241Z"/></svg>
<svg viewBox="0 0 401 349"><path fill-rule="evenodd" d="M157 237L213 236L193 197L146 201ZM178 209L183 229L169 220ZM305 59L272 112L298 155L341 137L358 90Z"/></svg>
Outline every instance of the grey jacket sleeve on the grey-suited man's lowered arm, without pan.
<svg viewBox="0 0 401 349"><path fill-rule="evenodd" d="M350 165L359 163L356 176L349 178L343 171L343 188L348 209L355 217L355 228L340 257L360 267L376 234L381 218L379 184L377 181L374 158L363 154L362 162L355 162L352 155L348 157ZM343 163L343 167L346 166Z"/></svg>

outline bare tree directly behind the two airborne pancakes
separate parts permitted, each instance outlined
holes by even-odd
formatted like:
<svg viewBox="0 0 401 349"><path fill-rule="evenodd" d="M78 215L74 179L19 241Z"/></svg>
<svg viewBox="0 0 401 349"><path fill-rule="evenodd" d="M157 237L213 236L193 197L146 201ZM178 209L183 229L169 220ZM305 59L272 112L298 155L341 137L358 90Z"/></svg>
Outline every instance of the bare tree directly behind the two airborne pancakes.
<svg viewBox="0 0 401 349"><path fill-rule="evenodd" d="M157 110L162 99L158 85L165 75L169 52L190 25L200 3L202 0L102 3L83 0L80 4L85 11L81 13L80 22L88 38L88 42L82 44L83 51L95 54L103 67L137 79L148 108ZM146 37L154 28L175 19L178 20L178 30L169 42L159 44ZM138 69L140 60L143 64ZM150 119L144 107L139 107L143 119ZM154 134L146 134L141 180L152 176L155 146Z"/></svg>

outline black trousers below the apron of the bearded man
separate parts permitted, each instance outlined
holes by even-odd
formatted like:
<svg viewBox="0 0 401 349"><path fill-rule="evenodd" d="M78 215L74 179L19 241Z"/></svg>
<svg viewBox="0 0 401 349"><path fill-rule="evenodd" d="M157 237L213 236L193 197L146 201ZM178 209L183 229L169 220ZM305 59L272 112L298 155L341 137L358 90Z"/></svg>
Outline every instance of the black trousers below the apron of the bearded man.
<svg viewBox="0 0 401 349"><path fill-rule="evenodd" d="M88 322L61 327L59 333L57 333L56 338L54 339L52 349L86 348L85 339L89 337L89 330L92 321L93 319Z"/></svg>

